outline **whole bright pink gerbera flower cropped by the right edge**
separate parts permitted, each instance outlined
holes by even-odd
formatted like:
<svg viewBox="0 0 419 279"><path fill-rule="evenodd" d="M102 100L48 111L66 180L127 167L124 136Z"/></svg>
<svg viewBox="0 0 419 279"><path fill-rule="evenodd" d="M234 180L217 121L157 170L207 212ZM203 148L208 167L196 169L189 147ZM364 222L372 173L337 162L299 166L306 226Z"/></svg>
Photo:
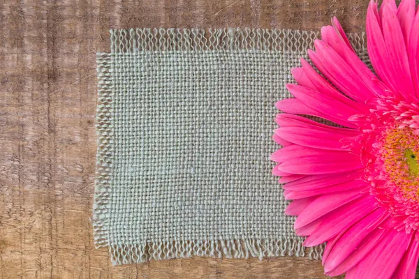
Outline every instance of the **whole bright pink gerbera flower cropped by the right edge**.
<svg viewBox="0 0 419 279"><path fill-rule="evenodd" d="M325 274L414 278L419 257L419 12L414 0L375 1L362 63L337 19L292 70L272 154L286 209L305 246L327 242ZM339 124L327 126L300 115Z"/></svg>

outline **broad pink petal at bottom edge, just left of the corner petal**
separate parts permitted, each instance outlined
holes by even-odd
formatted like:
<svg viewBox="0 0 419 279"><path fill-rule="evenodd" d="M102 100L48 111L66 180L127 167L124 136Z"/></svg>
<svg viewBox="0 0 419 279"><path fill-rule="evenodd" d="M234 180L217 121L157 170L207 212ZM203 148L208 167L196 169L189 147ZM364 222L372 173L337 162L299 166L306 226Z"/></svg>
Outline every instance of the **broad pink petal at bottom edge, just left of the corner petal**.
<svg viewBox="0 0 419 279"><path fill-rule="evenodd" d="M346 273L346 278L390 278L406 252L411 237L411 234L392 229L362 261Z"/></svg>

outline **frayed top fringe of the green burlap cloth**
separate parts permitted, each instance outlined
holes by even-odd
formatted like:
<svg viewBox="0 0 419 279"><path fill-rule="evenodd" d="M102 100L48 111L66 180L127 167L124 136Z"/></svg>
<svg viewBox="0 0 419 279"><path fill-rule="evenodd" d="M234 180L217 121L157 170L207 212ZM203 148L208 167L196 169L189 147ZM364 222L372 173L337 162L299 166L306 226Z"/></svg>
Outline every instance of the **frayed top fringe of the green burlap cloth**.
<svg viewBox="0 0 419 279"><path fill-rule="evenodd" d="M281 51L302 52L313 47L316 31L290 29L114 29L110 30L111 52L147 51ZM350 33L355 50L366 46L365 33Z"/></svg>

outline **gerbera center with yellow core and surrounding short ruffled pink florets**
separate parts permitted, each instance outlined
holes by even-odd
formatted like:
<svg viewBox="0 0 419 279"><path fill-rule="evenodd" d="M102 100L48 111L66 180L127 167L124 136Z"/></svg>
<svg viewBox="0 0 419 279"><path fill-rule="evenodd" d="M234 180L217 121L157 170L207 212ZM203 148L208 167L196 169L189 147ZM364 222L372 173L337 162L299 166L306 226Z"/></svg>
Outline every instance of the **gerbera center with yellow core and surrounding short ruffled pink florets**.
<svg viewBox="0 0 419 279"><path fill-rule="evenodd" d="M376 100L370 114L351 118L361 135L351 145L365 166L365 181L395 229L419 231L419 104Z"/></svg>

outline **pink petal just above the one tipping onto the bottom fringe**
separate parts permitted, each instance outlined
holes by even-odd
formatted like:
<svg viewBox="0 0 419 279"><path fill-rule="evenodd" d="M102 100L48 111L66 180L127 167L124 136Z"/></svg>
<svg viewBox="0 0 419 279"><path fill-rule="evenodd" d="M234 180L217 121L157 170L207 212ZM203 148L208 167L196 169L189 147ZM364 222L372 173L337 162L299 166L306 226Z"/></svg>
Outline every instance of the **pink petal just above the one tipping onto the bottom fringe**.
<svg viewBox="0 0 419 279"><path fill-rule="evenodd" d="M326 213L334 211L340 206L362 197L362 195L363 194L361 194L358 189L321 195L302 211L297 217L297 220L295 220L294 227L295 229L303 227L304 225L321 218L321 216L324 216Z"/></svg>

